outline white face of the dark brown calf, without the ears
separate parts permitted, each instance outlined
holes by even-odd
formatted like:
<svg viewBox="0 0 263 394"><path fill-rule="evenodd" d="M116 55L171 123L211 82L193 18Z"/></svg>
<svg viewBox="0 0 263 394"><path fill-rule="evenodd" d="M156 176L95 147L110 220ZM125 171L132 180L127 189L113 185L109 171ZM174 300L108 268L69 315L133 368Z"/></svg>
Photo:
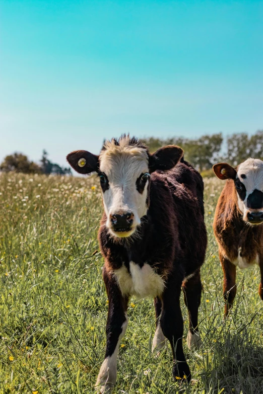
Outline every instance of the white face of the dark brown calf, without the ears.
<svg viewBox="0 0 263 394"><path fill-rule="evenodd" d="M112 235L129 237L147 213L150 182L146 149L109 142L99 156L106 226Z"/></svg>

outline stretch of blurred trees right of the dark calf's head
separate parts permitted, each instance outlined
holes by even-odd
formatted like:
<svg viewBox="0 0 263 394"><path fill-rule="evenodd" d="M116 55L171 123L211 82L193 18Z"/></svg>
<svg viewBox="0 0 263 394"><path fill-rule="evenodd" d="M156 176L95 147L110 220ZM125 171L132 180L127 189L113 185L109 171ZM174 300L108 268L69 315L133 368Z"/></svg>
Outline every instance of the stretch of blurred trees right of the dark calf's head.
<svg viewBox="0 0 263 394"><path fill-rule="evenodd" d="M184 150L184 157L200 172L209 170L218 162L237 166L248 157L263 160L263 130L249 136L247 133L229 135L224 140L222 133L203 135L200 138L144 138L151 152L164 146L175 144Z"/></svg>

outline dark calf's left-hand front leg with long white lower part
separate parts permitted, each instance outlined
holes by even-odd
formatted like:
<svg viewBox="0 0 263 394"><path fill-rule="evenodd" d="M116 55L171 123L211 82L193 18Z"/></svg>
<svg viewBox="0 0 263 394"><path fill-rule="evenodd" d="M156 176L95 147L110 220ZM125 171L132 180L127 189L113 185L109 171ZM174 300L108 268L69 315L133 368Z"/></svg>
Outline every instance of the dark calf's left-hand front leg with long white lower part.
<svg viewBox="0 0 263 394"><path fill-rule="evenodd" d="M111 273L103 271L103 280L108 294L108 318L106 324L106 354L100 367L96 386L100 393L110 393L117 377L118 349L127 328L127 302L128 298L121 291Z"/></svg>

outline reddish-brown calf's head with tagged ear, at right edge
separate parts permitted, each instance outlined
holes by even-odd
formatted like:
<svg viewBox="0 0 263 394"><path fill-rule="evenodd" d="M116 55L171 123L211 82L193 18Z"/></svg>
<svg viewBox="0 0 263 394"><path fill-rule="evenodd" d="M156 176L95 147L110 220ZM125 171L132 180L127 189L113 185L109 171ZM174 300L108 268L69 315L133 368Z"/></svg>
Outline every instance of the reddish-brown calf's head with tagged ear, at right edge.
<svg viewBox="0 0 263 394"><path fill-rule="evenodd" d="M250 224L261 224L263 222L263 162L259 159L247 159L235 169L227 163L216 164L213 169L218 178L233 179L243 220Z"/></svg>

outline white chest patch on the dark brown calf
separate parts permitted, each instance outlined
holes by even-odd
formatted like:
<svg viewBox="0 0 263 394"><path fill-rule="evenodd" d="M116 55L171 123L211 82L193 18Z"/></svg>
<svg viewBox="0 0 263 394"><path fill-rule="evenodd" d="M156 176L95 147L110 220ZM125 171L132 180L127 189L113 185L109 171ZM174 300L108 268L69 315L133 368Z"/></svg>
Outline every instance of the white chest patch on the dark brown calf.
<svg viewBox="0 0 263 394"><path fill-rule="evenodd" d="M144 264L141 268L131 261L129 270L130 273L122 265L121 268L114 271L122 294L134 295L137 298L156 297L162 294L164 281L149 264Z"/></svg>

